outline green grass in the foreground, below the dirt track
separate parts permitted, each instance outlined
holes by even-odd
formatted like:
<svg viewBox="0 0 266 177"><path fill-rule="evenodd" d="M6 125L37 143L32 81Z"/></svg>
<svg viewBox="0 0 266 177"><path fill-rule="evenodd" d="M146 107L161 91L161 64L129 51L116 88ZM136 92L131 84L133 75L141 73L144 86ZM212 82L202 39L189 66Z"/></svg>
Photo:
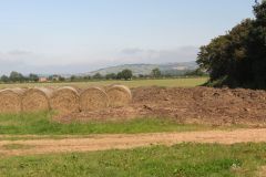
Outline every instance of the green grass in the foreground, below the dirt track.
<svg viewBox="0 0 266 177"><path fill-rule="evenodd" d="M1 177L255 177L266 144L181 144L126 150L0 157Z"/></svg>

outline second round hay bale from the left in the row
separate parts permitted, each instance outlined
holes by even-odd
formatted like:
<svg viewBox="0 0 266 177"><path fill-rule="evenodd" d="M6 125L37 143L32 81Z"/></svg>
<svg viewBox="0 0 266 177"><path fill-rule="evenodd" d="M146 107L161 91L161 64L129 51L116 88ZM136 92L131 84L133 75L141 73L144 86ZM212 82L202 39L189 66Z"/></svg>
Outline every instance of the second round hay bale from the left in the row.
<svg viewBox="0 0 266 177"><path fill-rule="evenodd" d="M45 87L29 88L22 95L23 112L49 111L52 90Z"/></svg>

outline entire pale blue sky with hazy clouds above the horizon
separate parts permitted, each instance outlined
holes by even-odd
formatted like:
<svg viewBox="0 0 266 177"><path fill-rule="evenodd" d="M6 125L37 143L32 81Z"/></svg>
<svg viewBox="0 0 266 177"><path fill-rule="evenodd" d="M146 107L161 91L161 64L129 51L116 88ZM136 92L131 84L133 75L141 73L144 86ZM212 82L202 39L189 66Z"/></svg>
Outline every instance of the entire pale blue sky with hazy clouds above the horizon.
<svg viewBox="0 0 266 177"><path fill-rule="evenodd" d="M254 0L0 0L0 74L193 61Z"/></svg>

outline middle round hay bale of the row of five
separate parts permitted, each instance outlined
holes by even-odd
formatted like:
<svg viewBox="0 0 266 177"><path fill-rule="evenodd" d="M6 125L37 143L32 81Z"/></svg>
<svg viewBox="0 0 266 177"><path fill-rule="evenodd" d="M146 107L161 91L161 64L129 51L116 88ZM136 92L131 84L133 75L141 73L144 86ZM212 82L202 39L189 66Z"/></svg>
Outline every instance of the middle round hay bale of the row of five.
<svg viewBox="0 0 266 177"><path fill-rule="evenodd" d="M69 114L80 111L79 92L71 86L55 90L50 98L51 108L60 114Z"/></svg>

